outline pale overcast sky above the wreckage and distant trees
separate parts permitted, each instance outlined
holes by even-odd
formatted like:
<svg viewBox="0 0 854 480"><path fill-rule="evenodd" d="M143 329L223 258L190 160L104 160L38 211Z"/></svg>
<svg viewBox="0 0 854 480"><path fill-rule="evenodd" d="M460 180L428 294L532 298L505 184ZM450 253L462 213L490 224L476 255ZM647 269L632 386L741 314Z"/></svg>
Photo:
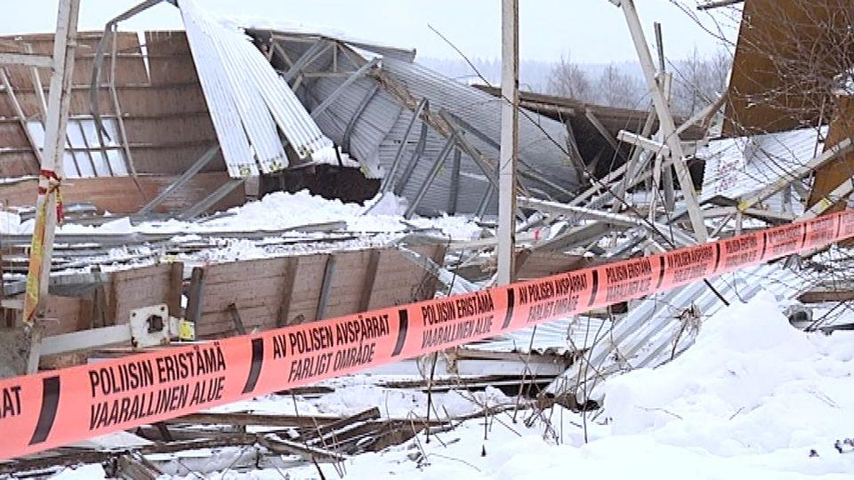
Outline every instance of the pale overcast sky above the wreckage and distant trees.
<svg viewBox="0 0 854 480"><path fill-rule="evenodd" d="M101 30L110 18L140 0L81 0L79 28ZM703 26L722 26L730 40L737 35L727 12L713 18L697 12L695 0L675 0L697 15ZM0 34L53 31L58 0L6 0ZM302 25L346 32L352 37L415 48L419 55L456 58L458 55L430 26L466 55L485 59L500 56L500 0L197 0L210 12L243 17L243 24ZM652 23L663 24L665 51L683 58L696 47L708 52L721 41L671 0L637 0L641 20L652 41ZM12 6L13 5L13 6ZM123 30L182 28L171 4L160 4L120 25ZM523 60L572 60L600 63L635 60L622 12L608 0L521 0L520 56Z"/></svg>

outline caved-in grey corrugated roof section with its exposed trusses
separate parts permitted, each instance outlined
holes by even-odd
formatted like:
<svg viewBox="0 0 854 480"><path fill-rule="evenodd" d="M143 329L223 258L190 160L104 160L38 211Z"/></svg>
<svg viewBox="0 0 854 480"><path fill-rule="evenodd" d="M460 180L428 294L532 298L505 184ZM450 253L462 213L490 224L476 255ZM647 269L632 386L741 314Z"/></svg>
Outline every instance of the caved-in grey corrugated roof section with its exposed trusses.
<svg viewBox="0 0 854 480"><path fill-rule="evenodd" d="M411 51L302 32L246 33L320 130L414 212L496 211L501 100L423 68ZM525 110L519 136L521 188L570 199L579 179L564 125Z"/></svg>

